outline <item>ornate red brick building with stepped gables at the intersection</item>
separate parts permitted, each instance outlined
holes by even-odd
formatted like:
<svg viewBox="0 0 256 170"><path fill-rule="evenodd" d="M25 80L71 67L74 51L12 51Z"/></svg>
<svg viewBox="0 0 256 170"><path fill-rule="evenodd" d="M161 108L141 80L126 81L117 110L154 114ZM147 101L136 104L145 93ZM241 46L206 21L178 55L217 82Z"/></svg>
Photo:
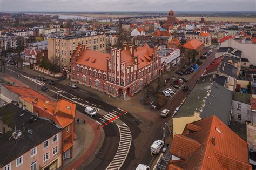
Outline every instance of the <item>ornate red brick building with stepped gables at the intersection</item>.
<svg viewBox="0 0 256 170"><path fill-rule="evenodd" d="M134 49L111 48L110 54L90 51L78 45L71 57L71 81L104 91L114 97L137 93L161 74L157 46L146 43Z"/></svg>

